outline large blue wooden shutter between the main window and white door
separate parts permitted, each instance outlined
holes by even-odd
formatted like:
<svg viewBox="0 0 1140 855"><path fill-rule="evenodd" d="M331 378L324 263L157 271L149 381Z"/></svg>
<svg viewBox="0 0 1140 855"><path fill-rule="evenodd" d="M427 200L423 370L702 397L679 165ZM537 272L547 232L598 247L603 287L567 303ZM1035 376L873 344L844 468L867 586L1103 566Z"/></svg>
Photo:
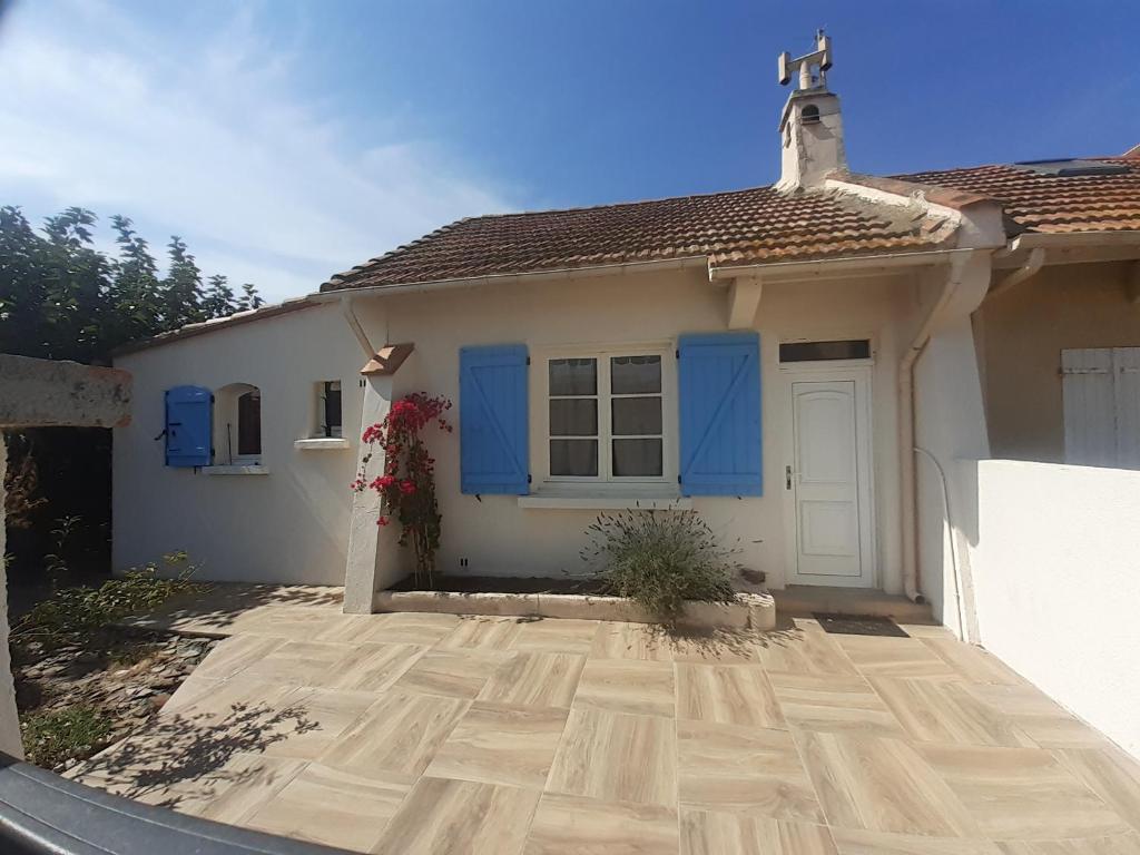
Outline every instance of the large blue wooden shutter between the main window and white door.
<svg viewBox="0 0 1140 855"><path fill-rule="evenodd" d="M683 335L681 492L762 496L760 336Z"/></svg>

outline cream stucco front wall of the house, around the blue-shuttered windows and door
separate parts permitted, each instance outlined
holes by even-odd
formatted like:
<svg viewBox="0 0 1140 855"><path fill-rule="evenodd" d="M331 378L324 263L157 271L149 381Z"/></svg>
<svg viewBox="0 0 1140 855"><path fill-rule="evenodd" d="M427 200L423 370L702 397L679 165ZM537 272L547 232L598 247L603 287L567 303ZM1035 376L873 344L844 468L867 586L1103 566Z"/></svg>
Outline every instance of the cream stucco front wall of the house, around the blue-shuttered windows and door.
<svg viewBox="0 0 1140 855"><path fill-rule="evenodd" d="M360 296L357 312L374 343L415 343L398 374L404 389L458 398L458 349L469 344L543 345L675 340L724 331L727 296L701 270L514 283L386 298ZM784 583L785 390L781 336L876 340L873 376L876 518L879 584L901 587L896 367L901 333L915 324L913 282L766 285L762 334L765 496L701 498L697 508L746 564ZM359 435L356 373L363 355L339 308L317 308L129 356L136 423L116 432L115 559L137 563L171 548L207 561L217 578L342 583L355 451L296 451L311 384L340 377L345 435ZM247 382L262 390L263 458L271 474L217 478L164 467L162 391L177 383L217 388ZM531 407L540 406L532 402ZM467 572L580 572L584 531L596 512L523 508L515 497L458 491L458 437L432 438L438 458L443 544L439 565ZM535 445L535 443L532 443ZM532 448L532 454L535 453Z"/></svg>

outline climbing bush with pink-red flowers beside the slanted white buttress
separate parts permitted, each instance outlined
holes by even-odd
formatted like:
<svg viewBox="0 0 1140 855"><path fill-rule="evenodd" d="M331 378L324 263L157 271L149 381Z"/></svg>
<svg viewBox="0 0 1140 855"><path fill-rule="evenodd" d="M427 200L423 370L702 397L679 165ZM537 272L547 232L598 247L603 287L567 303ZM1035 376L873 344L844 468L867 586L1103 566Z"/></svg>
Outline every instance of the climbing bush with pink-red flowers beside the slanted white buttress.
<svg viewBox="0 0 1140 855"><path fill-rule="evenodd" d="M384 455L384 474L368 481L367 469L374 451L360 462L351 487L356 492L375 490L381 507L377 526L399 522L400 546L412 546L416 555L416 585L432 585L440 521L435 502L435 458L427 453L422 432L432 422L447 433L454 427L443 418L451 401L414 392L392 405L383 422L364 432L361 440Z"/></svg>

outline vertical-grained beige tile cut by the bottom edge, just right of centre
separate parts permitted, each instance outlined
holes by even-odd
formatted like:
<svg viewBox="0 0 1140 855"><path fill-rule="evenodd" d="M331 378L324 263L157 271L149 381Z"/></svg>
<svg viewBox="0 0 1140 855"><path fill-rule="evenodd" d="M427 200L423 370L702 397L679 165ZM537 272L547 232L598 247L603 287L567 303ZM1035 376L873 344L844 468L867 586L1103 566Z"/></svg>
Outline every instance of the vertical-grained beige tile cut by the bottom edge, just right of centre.
<svg viewBox="0 0 1140 855"><path fill-rule="evenodd" d="M769 816L681 812L681 855L838 855L825 825Z"/></svg>

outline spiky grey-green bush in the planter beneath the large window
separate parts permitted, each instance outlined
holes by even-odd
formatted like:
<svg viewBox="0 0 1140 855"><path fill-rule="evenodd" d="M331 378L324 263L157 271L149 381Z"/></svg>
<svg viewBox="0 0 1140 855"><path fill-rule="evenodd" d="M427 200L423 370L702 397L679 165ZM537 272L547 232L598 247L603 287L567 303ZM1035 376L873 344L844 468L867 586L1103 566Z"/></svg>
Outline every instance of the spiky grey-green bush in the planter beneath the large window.
<svg viewBox="0 0 1140 855"><path fill-rule="evenodd" d="M601 514L587 529L583 557L606 592L627 596L673 622L685 600L727 603L735 598L734 552L722 547L695 511L622 511Z"/></svg>

